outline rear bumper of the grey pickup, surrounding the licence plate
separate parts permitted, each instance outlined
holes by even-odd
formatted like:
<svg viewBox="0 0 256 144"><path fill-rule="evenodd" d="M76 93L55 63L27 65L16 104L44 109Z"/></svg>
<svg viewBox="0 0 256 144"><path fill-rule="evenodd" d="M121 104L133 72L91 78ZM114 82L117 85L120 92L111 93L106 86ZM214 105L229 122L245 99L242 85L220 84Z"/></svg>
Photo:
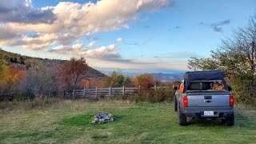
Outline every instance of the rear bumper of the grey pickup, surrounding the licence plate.
<svg viewBox="0 0 256 144"><path fill-rule="evenodd" d="M214 111L214 115L206 116L204 111ZM192 118L226 118L229 114L234 114L234 107L185 107L183 113Z"/></svg>

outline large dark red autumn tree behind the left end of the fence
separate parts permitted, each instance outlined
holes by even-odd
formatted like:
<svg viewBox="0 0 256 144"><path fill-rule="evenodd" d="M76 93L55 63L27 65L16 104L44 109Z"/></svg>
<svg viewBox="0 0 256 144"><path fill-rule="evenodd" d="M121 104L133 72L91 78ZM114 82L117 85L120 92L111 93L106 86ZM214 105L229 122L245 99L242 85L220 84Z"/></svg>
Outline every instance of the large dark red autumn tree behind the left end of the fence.
<svg viewBox="0 0 256 144"><path fill-rule="evenodd" d="M73 90L86 78L88 65L85 58L71 58L58 70L58 82L64 90Z"/></svg>

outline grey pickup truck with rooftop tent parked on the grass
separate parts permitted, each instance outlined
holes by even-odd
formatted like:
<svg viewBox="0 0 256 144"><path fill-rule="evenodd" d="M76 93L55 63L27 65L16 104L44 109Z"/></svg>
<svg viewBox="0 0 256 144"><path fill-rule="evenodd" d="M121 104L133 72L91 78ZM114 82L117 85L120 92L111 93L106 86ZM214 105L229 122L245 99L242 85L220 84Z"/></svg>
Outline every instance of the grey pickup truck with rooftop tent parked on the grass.
<svg viewBox="0 0 256 144"><path fill-rule="evenodd" d="M174 110L178 123L186 118L221 118L222 124L234 125L234 97L219 70L186 72L180 86L174 86Z"/></svg>

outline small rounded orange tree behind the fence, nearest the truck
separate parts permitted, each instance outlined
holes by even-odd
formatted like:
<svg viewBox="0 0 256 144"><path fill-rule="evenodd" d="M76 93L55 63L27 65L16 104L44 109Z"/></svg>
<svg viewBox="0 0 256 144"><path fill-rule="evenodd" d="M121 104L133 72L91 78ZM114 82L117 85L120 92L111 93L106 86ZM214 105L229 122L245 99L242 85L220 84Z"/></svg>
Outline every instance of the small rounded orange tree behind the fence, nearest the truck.
<svg viewBox="0 0 256 144"><path fill-rule="evenodd" d="M141 74L134 78L134 86L141 86L142 89L149 89L154 86L154 77L151 74Z"/></svg>

